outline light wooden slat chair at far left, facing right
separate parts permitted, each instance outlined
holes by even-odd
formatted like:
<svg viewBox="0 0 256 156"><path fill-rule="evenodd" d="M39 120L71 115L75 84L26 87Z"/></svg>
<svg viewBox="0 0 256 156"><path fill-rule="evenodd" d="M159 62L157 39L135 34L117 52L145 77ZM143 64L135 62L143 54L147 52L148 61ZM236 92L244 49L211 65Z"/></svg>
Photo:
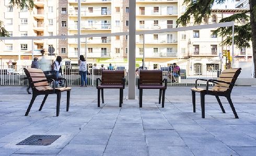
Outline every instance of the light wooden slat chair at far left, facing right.
<svg viewBox="0 0 256 156"><path fill-rule="evenodd" d="M57 94L56 116L59 116L62 92L67 92L66 111L68 111L71 87L67 87L66 79L64 79L64 78L62 79L62 80L64 80L64 83L66 83L66 87L55 88L55 81L53 79L46 79L45 74L43 73L43 71L41 69L24 68L24 72L28 77L29 85L32 88L32 94L33 94L25 116L28 115L28 113L33 105L33 102L38 95L44 95L43 101L42 101L40 109L39 109L39 111L41 111L43 108L43 105L45 103L45 100L49 94ZM53 88L51 86L49 86L49 82L53 82Z"/></svg>

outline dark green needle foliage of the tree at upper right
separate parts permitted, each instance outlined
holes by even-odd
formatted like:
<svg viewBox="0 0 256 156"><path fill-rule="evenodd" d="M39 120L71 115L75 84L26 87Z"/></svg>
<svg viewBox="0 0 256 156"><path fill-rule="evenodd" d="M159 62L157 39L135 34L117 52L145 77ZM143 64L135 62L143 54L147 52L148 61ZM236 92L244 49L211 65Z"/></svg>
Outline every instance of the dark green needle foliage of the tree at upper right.
<svg viewBox="0 0 256 156"><path fill-rule="evenodd" d="M186 26L190 23L190 19L194 19L194 24L200 24L202 19L211 16L211 10L214 2L216 4L223 4L225 1L231 0L184 0L183 5L187 6L186 12L177 20L176 27ZM253 7L254 15L256 15L256 6ZM256 18L256 16L255 16ZM241 21L244 20L244 23ZM246 12L240 14L234 14L227 18L221 19L219 22L235 21L241 23L239 26L235 25L234 30L234 44L238 47L249 48L249 42L252 40L250 16L246 15ZM232 27L218 28L212 35L224 36L224 41L220 43L220 46L232 44Z"/></svg>

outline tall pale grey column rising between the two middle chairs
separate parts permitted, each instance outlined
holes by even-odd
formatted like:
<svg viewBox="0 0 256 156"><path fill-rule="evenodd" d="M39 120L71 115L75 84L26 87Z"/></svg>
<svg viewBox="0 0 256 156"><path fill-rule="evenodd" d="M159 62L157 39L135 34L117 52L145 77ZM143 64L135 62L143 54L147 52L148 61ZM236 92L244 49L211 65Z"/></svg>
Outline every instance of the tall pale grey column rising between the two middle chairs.
<svg viewBox="0 0 256 156"><path fill-rule="evenodd" d="M135 99L135 68L136 68L136 1L129 0L129 95L128 99Z"/></svg>

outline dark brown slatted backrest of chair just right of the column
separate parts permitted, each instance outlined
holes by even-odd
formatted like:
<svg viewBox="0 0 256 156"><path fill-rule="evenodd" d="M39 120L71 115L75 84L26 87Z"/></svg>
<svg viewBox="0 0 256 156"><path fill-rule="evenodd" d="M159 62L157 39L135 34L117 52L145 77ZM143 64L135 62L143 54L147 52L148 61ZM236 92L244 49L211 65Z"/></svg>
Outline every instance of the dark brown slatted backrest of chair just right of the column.
<svg viewBox="0 0 256 156"><path fill-rule="evenodd" d="M162 85L162 70L140 70L139 84Z"/></svg>

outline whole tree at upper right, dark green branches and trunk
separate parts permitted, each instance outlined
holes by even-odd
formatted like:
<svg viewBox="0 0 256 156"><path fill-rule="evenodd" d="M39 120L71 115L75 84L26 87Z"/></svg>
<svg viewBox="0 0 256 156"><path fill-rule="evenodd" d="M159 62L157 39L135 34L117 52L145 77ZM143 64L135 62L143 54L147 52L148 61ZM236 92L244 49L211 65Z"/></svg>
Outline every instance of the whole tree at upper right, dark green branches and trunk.
<svg viewBox="0 0 256 156"><path fill-rule="evenodd" d="M184 0L183 5L187 6L185 13L177 20L176 27L186 26L190 23L191 16L194 18L194 24L201 23L202 19L211 15L211 10L214 3L224 4L228 0ZM231 1L231 0L229 0ZM232 0L234 1L234 0ZM246 24L235 25L234 44L237 48L249 48L252 42L252 55L254 63L254 73L256 73L256 1L249 0L250 16L247 16L248 12L241 12L240 14L234 14L230 17L223 18L219 22L240 22L245 20ZM222 27L216 29L213 34L218 36L229 36L221 45L231 45L232 43L232 27ZM256 77L256 76L255 76Z"/></svg>

